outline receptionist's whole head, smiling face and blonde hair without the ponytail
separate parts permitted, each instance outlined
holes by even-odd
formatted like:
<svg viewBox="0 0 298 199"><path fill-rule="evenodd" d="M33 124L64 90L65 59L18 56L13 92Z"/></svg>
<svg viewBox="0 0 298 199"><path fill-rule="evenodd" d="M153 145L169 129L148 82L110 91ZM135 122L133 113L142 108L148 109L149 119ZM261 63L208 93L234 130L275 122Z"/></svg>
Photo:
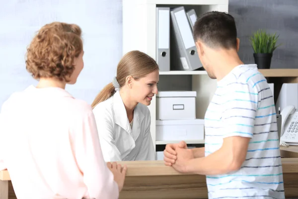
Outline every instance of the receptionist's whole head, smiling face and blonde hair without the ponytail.
<svg viewBox="0 0 298 199"><path fill-rule="evenodd" d="M146 53L130 51L120 60L116 79L126 106L134 108L138 103L150 105L152 97L157 94L159 67Z"/></svg>

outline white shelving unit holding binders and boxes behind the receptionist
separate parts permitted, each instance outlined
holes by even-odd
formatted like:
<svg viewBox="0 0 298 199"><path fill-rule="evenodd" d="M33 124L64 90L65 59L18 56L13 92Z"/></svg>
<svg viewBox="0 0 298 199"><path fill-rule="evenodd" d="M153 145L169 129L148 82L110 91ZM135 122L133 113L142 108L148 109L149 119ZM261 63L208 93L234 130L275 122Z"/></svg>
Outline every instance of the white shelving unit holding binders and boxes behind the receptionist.
<svg viewBox="0 0 298 199"><path fill-rule="evenodd" d="M197 16L217 10L228 12L228 0L123 0L123 55L140 50L156 60L156 7L171 8L184 6L185 10L195 9ZM216 90L216 80L208 77L206 71L160 71L159 79L170 80L177 76L191 79L192 91L197 91L196 117L204 118L208 104ZM166 87L167 85L162 85ZM171 85L172 86L172 85ZM173 88L171 88L173 89ZM156 99L149 105L151 113L151 137L154 146L177 143L175 140L156 140ZM202 144L204 140L186 140L189 144Z"/></svg>

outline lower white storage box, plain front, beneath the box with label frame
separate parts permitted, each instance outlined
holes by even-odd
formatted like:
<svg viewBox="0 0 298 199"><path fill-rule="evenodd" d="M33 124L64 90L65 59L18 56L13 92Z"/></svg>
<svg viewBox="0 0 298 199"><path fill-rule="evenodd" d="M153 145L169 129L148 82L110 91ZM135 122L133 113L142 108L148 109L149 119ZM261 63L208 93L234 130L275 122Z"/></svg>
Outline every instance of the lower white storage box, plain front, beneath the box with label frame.
<svg viewBox="0 0 298 199"><path fill-rule="evenodd" d="M203 140L204 119L156 120L156 140Z"/></svg>

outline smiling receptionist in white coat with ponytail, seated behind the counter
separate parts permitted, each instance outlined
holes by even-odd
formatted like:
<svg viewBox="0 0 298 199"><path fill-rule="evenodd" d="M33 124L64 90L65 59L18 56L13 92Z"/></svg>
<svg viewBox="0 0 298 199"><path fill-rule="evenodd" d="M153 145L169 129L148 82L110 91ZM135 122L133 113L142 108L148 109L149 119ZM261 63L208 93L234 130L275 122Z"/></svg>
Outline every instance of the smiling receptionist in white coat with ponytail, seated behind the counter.
<svg viewBox="0 0 298 199"><path fill-rule="evenodd" d="M147 54L123 56L117 76L92 103L106 162L155 160L150 133L150 105L157 94L159 68Z"/></svg>

